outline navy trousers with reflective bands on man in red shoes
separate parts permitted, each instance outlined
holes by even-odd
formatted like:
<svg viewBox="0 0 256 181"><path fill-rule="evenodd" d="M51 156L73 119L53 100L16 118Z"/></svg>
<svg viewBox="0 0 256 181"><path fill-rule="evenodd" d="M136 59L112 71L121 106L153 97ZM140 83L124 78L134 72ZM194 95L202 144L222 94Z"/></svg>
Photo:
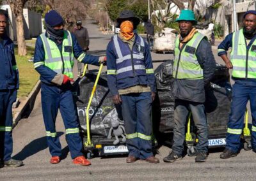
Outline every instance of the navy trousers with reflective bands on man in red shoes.
<svg viewBox="0 0 256 181"><path fill-rule="evenodd" d="M56 133L56 117L60 109L66 129L66 140L72 159L82 156L82 140L76 115L70 83L67 85L47 85L42 83L42 110L47 134L47 143L52 156L61 156L60 139Z"/></svg>

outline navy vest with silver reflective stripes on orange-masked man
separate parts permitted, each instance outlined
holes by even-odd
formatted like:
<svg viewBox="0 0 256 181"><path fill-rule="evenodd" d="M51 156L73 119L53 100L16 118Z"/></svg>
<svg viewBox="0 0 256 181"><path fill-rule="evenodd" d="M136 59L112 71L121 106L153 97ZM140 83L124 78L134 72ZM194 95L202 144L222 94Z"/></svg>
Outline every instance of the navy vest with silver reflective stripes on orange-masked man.
<svg viewBox="0 0 256 181"><path fill-rule="evenodd" d="M138 36L134 43L133 50L127 48L127 43L124 43L117 35L113 36L113 42L116 50L116 79L133 77L137 75L146 75L144 62L145 43L141 36ZM109 71L109 74L114 72Z"/></svg>

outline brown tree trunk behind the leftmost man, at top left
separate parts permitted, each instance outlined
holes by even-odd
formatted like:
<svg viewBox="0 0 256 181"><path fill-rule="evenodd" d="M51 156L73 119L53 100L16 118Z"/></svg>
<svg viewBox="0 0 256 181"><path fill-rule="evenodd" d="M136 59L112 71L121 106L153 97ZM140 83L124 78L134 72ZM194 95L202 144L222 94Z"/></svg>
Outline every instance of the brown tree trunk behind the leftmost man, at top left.
<svg viewBox="0 0 256 181"><path fill-rule="evenodd" d="M17 25L18 54L22 56L27 54L23 28L23 8L27 1L28 0L7 0L8 4L10 4Z"/></svg>

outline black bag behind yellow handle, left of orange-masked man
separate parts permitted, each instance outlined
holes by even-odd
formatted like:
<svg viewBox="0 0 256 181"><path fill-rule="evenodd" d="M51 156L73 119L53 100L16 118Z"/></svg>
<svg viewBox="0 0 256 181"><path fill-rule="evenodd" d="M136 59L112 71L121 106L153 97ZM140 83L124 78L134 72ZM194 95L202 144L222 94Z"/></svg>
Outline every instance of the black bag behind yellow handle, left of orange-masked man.
<svg viewBox="0 0 256 181"><path fill-rule="evenodd" d="M97 73L87 73L82 79L77 79L74 83L74 99L77 106L77 114L80 126L86 133L86 108L92 94ZM107 75L101 73L97 89L92 99L92 105L89 110L90 131L93 136L108 137L111 128L111 120L122 121L121 109L112 102L112 96L108 89Z"/></svg>

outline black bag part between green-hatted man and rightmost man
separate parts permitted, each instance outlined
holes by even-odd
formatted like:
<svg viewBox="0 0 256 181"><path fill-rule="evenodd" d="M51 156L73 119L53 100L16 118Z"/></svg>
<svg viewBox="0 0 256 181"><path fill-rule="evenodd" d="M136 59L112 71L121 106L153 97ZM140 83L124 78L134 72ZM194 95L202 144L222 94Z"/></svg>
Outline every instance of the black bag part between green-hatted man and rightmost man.
<svg viewBox="0 0 256 181"><path fill-rule="evenodd" d="M205 112L209 137L227 133L232 87L226 66L216 64L210 89L205 90Z"/></svg>

